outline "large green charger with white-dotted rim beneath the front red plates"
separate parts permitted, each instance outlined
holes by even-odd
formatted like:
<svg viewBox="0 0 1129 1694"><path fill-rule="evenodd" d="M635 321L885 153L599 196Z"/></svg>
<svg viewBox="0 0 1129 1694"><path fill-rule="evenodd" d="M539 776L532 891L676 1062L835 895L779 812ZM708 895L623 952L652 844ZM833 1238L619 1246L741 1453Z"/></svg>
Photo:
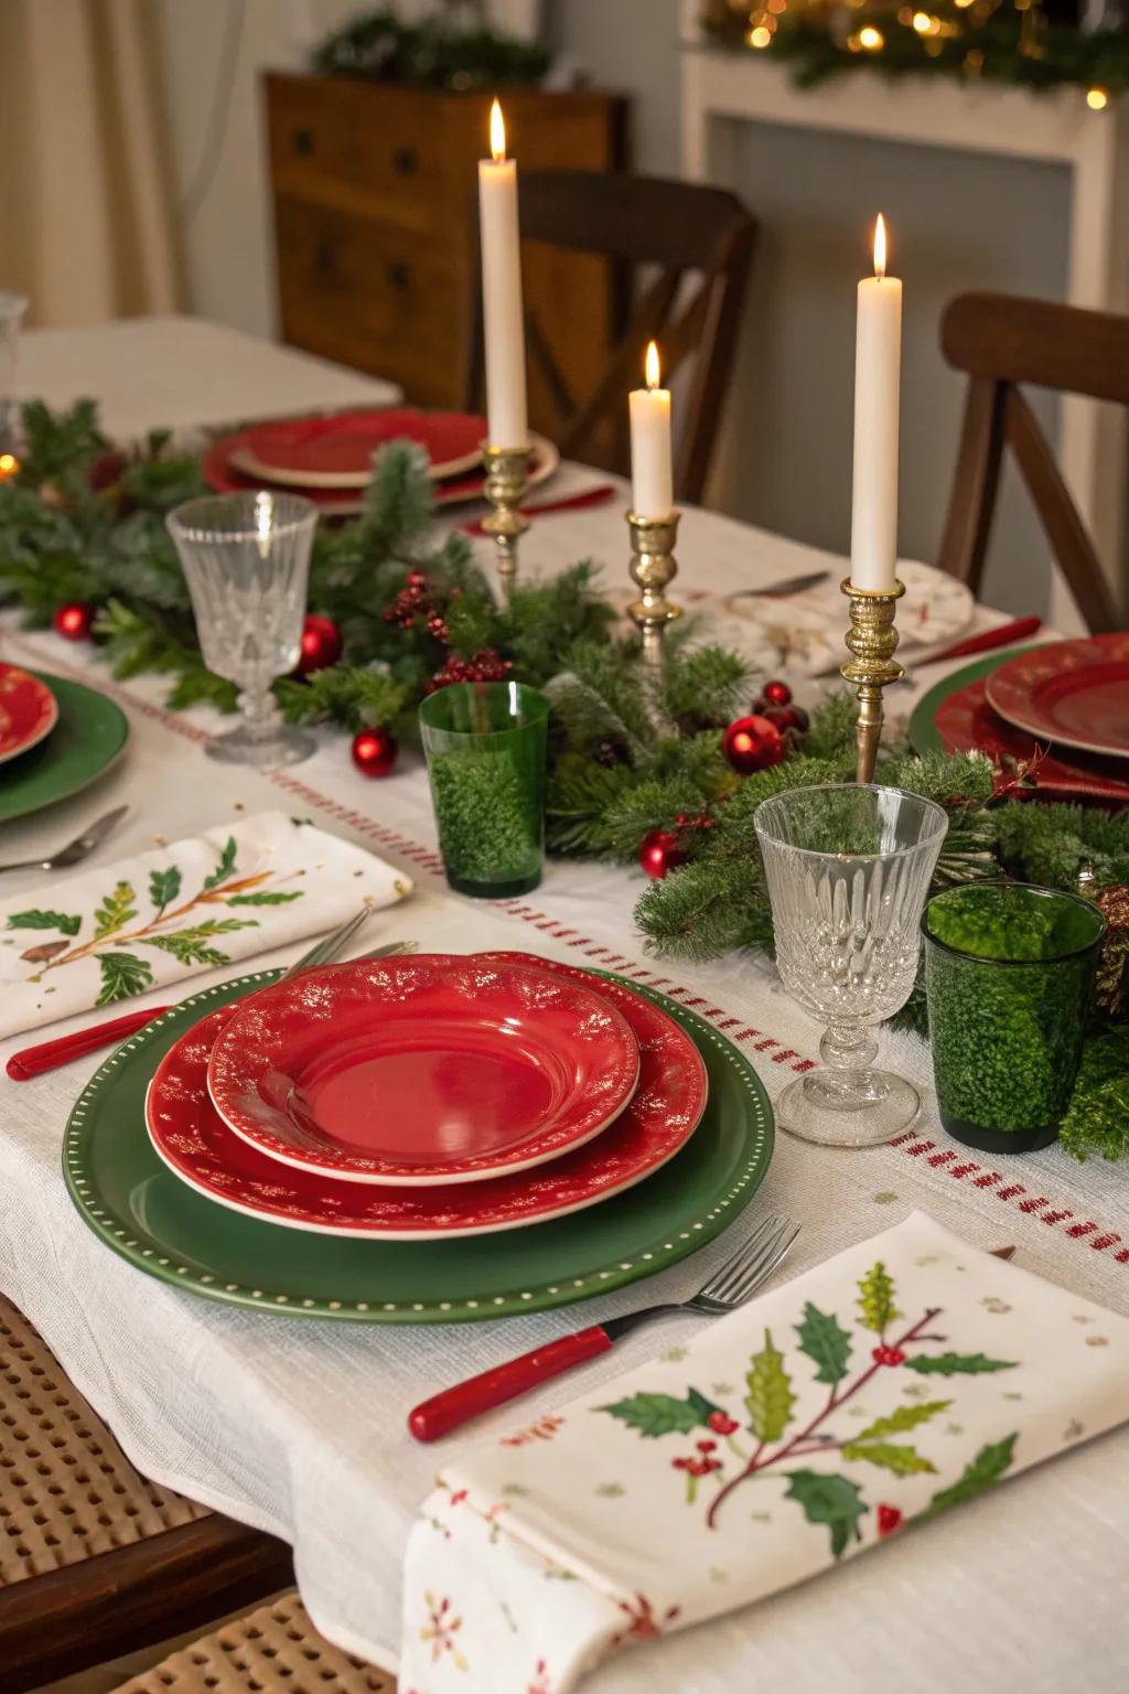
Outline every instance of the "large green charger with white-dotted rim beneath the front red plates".
<svg viewBox="0 0 1129 1694"><path fill-rule="evenodd" d="M149 1023L95 1072L66 1127L63 1174L95 1235L193 1294L357 1323L545 1311L686 1259L738 1216L768 1169L772 1106L748 1059L665 994L608 972L669 1011L709 1072L709 1101L691 1142L638 1187L552 1223L455 1242L333 1240L244 1218L195 1194L157 1159L146 1132L146 1089L196 1018L278 974L205 989Z"/></svg>

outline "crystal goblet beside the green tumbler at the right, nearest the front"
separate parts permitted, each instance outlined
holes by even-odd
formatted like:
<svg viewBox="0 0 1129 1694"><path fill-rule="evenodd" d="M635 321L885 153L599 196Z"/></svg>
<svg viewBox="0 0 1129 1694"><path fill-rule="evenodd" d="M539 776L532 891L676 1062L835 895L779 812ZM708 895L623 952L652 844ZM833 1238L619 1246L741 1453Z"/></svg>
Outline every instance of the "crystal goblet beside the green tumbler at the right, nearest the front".
<svg viewBox="0 0 1129 1694"><path fill-rule="evenodd" d="M877 1023L909 999L917 920L948 817L897 788L794 788L757 808L780 979L826 1025L823 1069L789 1084L780 1128L831 1147L873 1147L917 1115L917 1089L875 1071Z"/></svg>

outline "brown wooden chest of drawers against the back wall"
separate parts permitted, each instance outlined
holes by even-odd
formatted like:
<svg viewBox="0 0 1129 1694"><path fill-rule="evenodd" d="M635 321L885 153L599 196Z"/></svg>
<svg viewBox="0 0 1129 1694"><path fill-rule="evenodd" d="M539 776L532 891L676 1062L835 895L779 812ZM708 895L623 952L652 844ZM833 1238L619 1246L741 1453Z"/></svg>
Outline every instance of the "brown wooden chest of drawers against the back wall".
<svg viewBox="0 0 1129 1694"><path fill-rule="evenodd" d="M489 97L328 76L266 76L284 340L460 407L476 327L477 159ZM618 169L625 102L506 90L509 151L525 169ZM614 340L603 259L526 242L526 308L579 393ZM552 417L530 369L530 422Z"/></svg>

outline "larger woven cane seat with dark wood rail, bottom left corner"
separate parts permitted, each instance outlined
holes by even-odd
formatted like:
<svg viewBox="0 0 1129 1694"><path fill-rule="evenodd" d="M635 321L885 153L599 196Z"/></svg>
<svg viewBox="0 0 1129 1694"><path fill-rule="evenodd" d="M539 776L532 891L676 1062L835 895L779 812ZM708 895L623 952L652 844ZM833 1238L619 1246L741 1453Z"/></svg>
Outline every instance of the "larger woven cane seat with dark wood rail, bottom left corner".
<svg viewBox="0 0 1129 1694"><path fill-rule="evenodd" d="M289 1548L157 1487L0 1298L0 1689L24 1694L293 1582Z"/></svg>

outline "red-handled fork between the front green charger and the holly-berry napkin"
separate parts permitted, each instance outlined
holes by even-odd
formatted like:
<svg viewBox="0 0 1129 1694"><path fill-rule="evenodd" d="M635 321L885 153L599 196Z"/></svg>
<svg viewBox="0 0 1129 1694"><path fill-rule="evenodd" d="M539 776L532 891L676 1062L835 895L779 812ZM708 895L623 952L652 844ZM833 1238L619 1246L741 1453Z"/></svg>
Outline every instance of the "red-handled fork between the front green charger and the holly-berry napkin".
<svg viewBox="0 0 1129 1694"><path fill-rule="evenodd" d="M455 1387L447 1387L442 1394L433 1394L408 1413L408 1428L416 1442L435 1442L440 1435L457 1430L494 1406L504 1406L508 1399L516 1399L538 1382L570 1370L572 1365L586 1359L606 1354L621 1335L628 1335L640 1323L660 1318L672 1311L697 1311L706 1318L721 1318L736 1311L757 1289L768 1281L789 1247L799 1235L799 1223L789 1218L767 1218L750 1238L738 1247L731 1259L726 1259L708 1282L704 1282L692 1299L684 1299L667 1306L647 1306L643 1311L628 1311L623 1318L608 1318L594 1323L589 1330L577 1330L576 1335L562 1335L559 1342L547 1342L535 1347L520 1359L511 1359L493 1370L469 1377Z"/></svg>

